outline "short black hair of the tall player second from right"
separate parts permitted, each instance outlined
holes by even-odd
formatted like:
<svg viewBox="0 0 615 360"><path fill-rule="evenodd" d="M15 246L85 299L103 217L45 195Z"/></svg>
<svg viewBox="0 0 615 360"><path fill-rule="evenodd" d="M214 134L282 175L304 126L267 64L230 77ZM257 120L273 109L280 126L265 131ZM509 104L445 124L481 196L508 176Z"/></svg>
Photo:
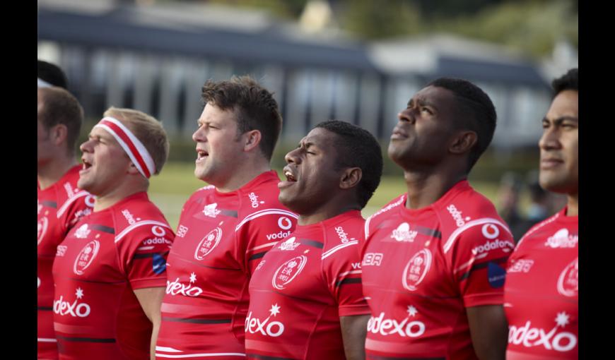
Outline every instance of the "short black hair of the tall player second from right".
<svg viewBox="0 0 615 360"><path fill-rule="evenodd" d="M459 112L459 125L476 132L478 140L476 140L474 148L470 150L468 157L467 171L469 172L493 139L498 117L496 107L493 106L493 102L481 88L468 80L438 78L429 83L428 86L437 86L452 91L459 107L462 107L462 111Z"/></svg>

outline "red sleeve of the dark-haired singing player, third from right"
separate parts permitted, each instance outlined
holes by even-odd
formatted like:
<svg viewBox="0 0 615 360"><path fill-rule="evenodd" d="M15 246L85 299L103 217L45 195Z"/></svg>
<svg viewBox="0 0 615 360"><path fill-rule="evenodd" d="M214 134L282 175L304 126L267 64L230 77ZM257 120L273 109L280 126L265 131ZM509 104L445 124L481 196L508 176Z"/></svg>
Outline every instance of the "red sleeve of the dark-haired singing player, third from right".
<svg viewBox="0 0 615 360"><path fill-rule="evenodd" d="M322 253L322 271L329 292L337 302L339 316L370 313L361 284L358 240L339 244Z"/></svg>

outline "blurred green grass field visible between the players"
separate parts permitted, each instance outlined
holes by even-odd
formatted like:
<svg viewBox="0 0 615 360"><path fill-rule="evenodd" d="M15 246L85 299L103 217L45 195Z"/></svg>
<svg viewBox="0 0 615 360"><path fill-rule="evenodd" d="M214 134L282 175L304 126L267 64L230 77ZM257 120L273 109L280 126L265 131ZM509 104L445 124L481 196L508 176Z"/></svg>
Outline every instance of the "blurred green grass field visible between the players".
<svg viewBox="0 0 615 360"><path fill-rule="evenodd" d="M278 174L281 174L280 169ZM491 201L496 200L498 184L471 181L472 186ZM153 176L150 181L149 196L160 207L173 229L177 229L182 205L197 188L206 184L194 177L194 164L170 162L165 164L163 172ZM383 205L406 191L401 176L383 176L374 196L363 209L363 216L368 217Z"/></svg>

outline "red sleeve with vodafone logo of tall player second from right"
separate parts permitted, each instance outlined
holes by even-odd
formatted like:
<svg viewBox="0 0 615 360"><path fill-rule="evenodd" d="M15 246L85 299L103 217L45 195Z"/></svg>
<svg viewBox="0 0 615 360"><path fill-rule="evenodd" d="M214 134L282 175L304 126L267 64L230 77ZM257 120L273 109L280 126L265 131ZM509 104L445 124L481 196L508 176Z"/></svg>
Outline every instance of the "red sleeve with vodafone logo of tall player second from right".
<svg viewBox="0 0 615 360"><path fill-rule="evenodd" d="M464 306L503 304L513 235L499 221L476 221L450 236L444 251Z"/></svg>

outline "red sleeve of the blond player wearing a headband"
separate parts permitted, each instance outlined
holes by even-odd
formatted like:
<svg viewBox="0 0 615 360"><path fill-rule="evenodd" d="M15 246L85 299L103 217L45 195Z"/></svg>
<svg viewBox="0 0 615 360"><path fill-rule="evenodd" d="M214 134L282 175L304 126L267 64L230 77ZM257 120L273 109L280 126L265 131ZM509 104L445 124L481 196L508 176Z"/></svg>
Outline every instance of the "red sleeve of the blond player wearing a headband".
<svg viewBox="0 0 615 360"><path fill-rule="evenodd" d="M129 229L129 232L120 233L119 236L115 239L119 266L131 287L164 287L167 281L167 257L175 239L168 224L149 222Z"/></svg>

